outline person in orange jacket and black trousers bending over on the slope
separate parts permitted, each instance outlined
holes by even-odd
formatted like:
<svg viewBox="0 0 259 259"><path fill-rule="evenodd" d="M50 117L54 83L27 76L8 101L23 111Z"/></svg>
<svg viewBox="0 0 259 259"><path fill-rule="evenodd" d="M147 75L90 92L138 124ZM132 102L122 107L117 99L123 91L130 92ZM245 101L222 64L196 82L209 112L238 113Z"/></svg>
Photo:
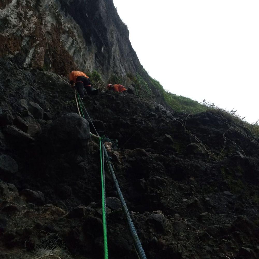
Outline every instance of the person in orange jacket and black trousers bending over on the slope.
<svg viewBox="0 0 259 259"><path fill-rule="evenodd" d="M75 87L80 97L84 97L84 88L88 95L97 95L98 89L92 89L90 78L81 71L72 71L69 74L69 81L71 87Z"/></svg>

